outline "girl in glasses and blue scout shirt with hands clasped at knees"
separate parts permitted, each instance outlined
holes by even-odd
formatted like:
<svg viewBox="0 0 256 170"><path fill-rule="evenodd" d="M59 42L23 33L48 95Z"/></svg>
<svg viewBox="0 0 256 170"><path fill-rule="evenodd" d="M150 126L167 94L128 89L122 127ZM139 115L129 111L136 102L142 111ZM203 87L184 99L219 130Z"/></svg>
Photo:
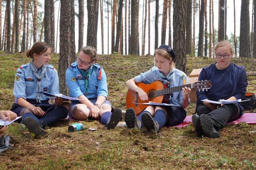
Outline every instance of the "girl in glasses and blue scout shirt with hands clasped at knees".
<svg viewBox="0 0 256 170"><path fill-rule="evenodd" d="M108 129L115 128L122 119L122 110L114 110L107 101L106 75L96 63L96 49L91 46L83 47L76 59L66 71L66 83L69 96L82 100L71 101L69 117L76 120L100 118Z"/></svg>

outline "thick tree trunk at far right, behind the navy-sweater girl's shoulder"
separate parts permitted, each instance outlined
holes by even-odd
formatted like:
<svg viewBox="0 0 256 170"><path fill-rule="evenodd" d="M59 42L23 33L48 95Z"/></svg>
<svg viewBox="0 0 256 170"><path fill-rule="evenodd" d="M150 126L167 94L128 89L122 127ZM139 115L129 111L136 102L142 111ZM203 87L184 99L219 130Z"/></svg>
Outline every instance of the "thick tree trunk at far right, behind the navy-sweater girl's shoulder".
<svg viewBox="0 0 256 170"><path fill-rule="evenodd" d="M249 1L241 1L239 57L251 58Z"/></svg>

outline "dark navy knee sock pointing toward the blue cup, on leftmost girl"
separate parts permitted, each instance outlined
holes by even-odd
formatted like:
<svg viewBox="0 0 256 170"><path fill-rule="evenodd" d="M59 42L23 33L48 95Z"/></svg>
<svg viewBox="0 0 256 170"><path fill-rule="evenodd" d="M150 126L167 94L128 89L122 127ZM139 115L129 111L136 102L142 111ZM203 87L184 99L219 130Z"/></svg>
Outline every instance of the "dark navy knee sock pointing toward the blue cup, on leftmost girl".
<svg viewBox="0 0 256 170"><path fill-rule="evenodd" d="M54 125L68 114L68 109L65 106L59 106L56 109L43 115L39 121L42 127Z"/></svg>

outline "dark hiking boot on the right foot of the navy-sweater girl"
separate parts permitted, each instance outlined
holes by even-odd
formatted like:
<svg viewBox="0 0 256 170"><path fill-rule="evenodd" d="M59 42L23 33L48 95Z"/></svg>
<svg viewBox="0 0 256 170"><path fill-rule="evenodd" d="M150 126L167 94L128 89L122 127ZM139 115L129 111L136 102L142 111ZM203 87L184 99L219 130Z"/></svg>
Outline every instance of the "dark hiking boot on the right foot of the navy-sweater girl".
<svg viewBox="0 0 256 170"><path fill-rule="evenodd" d="M214 129L212 119L208 115L206 115L206 114L200 115L200 124L201 124L201 128L203 130L203 133L208 138L221 137L221 135L219 135L217 130Z"/></svg>

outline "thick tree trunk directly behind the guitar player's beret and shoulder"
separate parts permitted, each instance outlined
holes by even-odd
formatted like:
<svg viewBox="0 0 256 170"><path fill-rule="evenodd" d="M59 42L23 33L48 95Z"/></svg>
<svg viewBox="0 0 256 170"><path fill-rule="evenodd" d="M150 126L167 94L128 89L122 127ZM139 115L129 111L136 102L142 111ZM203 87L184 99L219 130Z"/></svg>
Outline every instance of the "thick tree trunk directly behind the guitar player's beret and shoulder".
<svg viewBox="0 0 256 170"><path fill-rule="evenodd" d="M186 58L186 0L173 0L173 49L176 68L187 73Z"/></svg>

